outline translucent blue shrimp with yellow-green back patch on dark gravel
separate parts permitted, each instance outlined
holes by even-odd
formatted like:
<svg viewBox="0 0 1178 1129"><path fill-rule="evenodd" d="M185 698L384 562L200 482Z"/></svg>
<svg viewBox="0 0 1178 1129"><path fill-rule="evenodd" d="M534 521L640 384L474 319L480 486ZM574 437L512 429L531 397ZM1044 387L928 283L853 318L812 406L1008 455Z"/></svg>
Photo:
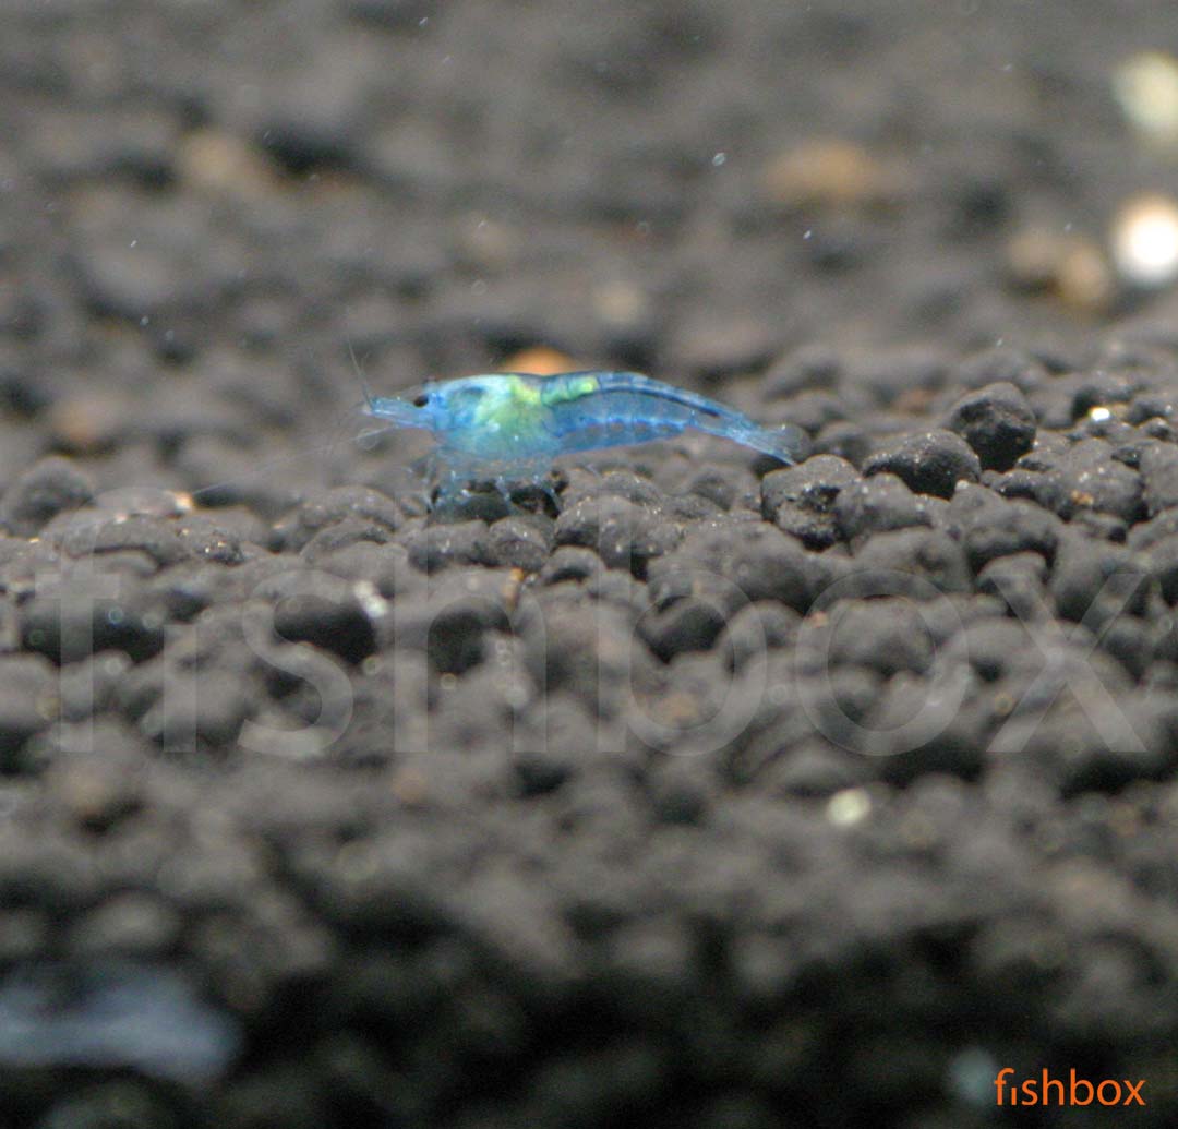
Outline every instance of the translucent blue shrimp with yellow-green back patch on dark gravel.
<svg viewBox="0 0 1178 1129"><path fill-rule="evenodd" d="M806 440L638 372L501 372L425 384L412 401L371 397L370 416L430 431L451 478L538 477L562 455L671 438L688 429L733 440L785 463ZM502 489L502 486L501 486Z"/></svg>

